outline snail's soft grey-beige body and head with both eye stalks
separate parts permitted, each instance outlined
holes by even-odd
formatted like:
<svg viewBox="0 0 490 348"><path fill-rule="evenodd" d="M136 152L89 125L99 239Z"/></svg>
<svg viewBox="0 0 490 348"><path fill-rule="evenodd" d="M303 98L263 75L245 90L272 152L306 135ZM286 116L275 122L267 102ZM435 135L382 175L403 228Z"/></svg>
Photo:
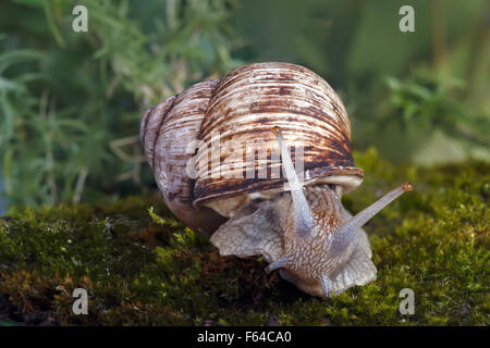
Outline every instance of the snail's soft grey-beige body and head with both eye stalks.
<svg viewBox="0 0 490 348"><path fill-rule="evenodd" d="M334 186L303 187L294 170L282 132L274 126L289 191L252 202L211 236L222 256L264 256L266 271L281 276L311 295L328 298L355 285L376 279L371 249L362 226L380 210L412 190L404 183L352 216Z"/></svg>

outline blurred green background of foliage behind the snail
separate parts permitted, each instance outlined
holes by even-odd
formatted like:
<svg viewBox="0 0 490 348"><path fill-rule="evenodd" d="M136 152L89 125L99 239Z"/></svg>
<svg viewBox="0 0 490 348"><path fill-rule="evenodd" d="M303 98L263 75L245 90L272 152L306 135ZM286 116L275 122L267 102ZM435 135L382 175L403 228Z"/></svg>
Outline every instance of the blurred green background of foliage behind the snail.
<svg viewBox="0 0 490 348"><path fill-rule="evenodd" d="M76 4L87 33L72 29ZM399 29L404 4L415 33ZM155 185L143 111L257 61L320 74L356 150L414 165L490 160L489 1L3 0L0 213Z"/></svg>

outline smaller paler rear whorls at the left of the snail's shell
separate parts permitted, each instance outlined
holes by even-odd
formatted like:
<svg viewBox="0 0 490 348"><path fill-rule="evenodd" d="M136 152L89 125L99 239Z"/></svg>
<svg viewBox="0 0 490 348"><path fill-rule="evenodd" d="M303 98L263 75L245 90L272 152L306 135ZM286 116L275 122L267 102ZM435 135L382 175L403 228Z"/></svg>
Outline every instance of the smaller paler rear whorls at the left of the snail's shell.
<svg viewBox="0 0 490 348"><path fill-rule="evenodd" d="M224 221L211 209L193 206L193 182L186 175L193 152L187 146L199 134L205 111L219 80L195 84L148 110L140 124L145 154L170 210L186 226L210 234Z"/></svg>

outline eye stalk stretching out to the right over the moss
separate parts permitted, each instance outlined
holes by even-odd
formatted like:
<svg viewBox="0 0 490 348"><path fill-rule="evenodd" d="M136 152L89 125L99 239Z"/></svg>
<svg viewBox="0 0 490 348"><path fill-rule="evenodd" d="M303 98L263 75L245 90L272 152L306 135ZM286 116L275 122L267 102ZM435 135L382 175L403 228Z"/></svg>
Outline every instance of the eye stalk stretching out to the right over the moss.
<svg viewBox="0 0 490 348"><path fill-rule="evenodd" d="M406 191L414 189L411 183L404 183L394 190L388 192L371 206L357 213L344 225L342 225L334 234L331 248L334 252L343 251L354 240L359 227L364 226L371 217L379 213L384 207L390 204L393 200L402 196Z"/></svg>

